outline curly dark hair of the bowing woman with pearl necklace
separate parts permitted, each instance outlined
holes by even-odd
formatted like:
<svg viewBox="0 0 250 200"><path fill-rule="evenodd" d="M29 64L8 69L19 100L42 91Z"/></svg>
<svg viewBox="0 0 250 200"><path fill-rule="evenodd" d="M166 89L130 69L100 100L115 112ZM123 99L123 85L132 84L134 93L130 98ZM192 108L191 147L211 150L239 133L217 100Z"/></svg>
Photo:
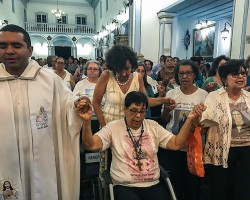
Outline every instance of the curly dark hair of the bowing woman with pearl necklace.
<svg viewBox="0 0 250 200"><path fill-rule="evenodd" d="M107 68L115 73L124 70L127 60L130 61L132 70L137 68L136 53L130 47L114 45L106 54Z"/></svg>

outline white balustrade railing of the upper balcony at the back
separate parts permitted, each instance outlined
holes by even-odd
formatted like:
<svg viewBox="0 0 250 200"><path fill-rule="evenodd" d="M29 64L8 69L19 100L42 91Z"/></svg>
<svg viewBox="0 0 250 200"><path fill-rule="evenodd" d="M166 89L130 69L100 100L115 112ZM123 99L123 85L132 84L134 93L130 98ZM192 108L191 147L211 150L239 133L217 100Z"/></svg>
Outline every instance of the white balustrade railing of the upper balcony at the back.
<svg viewBox="0 0 250 200"><path fill-rule="evenodd" d="M78 24L56 24L56 23L30 23L25 22L24 28L28 32L50 32L50 33L86 33L95 34L95 26Z"/></svg>

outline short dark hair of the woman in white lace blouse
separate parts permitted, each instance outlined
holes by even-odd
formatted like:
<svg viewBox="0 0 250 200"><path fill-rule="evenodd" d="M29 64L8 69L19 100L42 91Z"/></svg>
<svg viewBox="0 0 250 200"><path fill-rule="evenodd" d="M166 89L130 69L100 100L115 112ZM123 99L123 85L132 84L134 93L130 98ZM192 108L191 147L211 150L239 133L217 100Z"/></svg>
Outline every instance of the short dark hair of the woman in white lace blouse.
<svg viewBox="0 0 250 200"><path fill-rule="evenodd" d="M231 59L231 60L228 60L226 63L223 63L219 67L219 70L218 70L219 76L224 86L225 86L224 80L227 78L227 76L231 73L238 73L241 67L243 67L244 70L246 70L246 66L244 64L243 59Z"/></svg>

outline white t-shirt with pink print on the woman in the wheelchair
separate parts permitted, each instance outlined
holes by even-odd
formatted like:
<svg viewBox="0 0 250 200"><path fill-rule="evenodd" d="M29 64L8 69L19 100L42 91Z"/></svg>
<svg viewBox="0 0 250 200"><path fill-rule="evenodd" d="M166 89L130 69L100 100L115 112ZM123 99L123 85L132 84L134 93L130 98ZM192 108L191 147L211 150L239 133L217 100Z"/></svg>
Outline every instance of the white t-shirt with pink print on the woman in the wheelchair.
<svg viewBox="0 0 250 200"><path fill-rule="evenodd" d="M110 172L115 185L150 187L159 182L158 147L166 148L173 134L153 120L145 119L143 126L141 149L146 157L140 160L140 167L124 119L112 121L96 133L102 140L102 150L111 147ZM141 129L131 131L137 141Z"/></svg>

